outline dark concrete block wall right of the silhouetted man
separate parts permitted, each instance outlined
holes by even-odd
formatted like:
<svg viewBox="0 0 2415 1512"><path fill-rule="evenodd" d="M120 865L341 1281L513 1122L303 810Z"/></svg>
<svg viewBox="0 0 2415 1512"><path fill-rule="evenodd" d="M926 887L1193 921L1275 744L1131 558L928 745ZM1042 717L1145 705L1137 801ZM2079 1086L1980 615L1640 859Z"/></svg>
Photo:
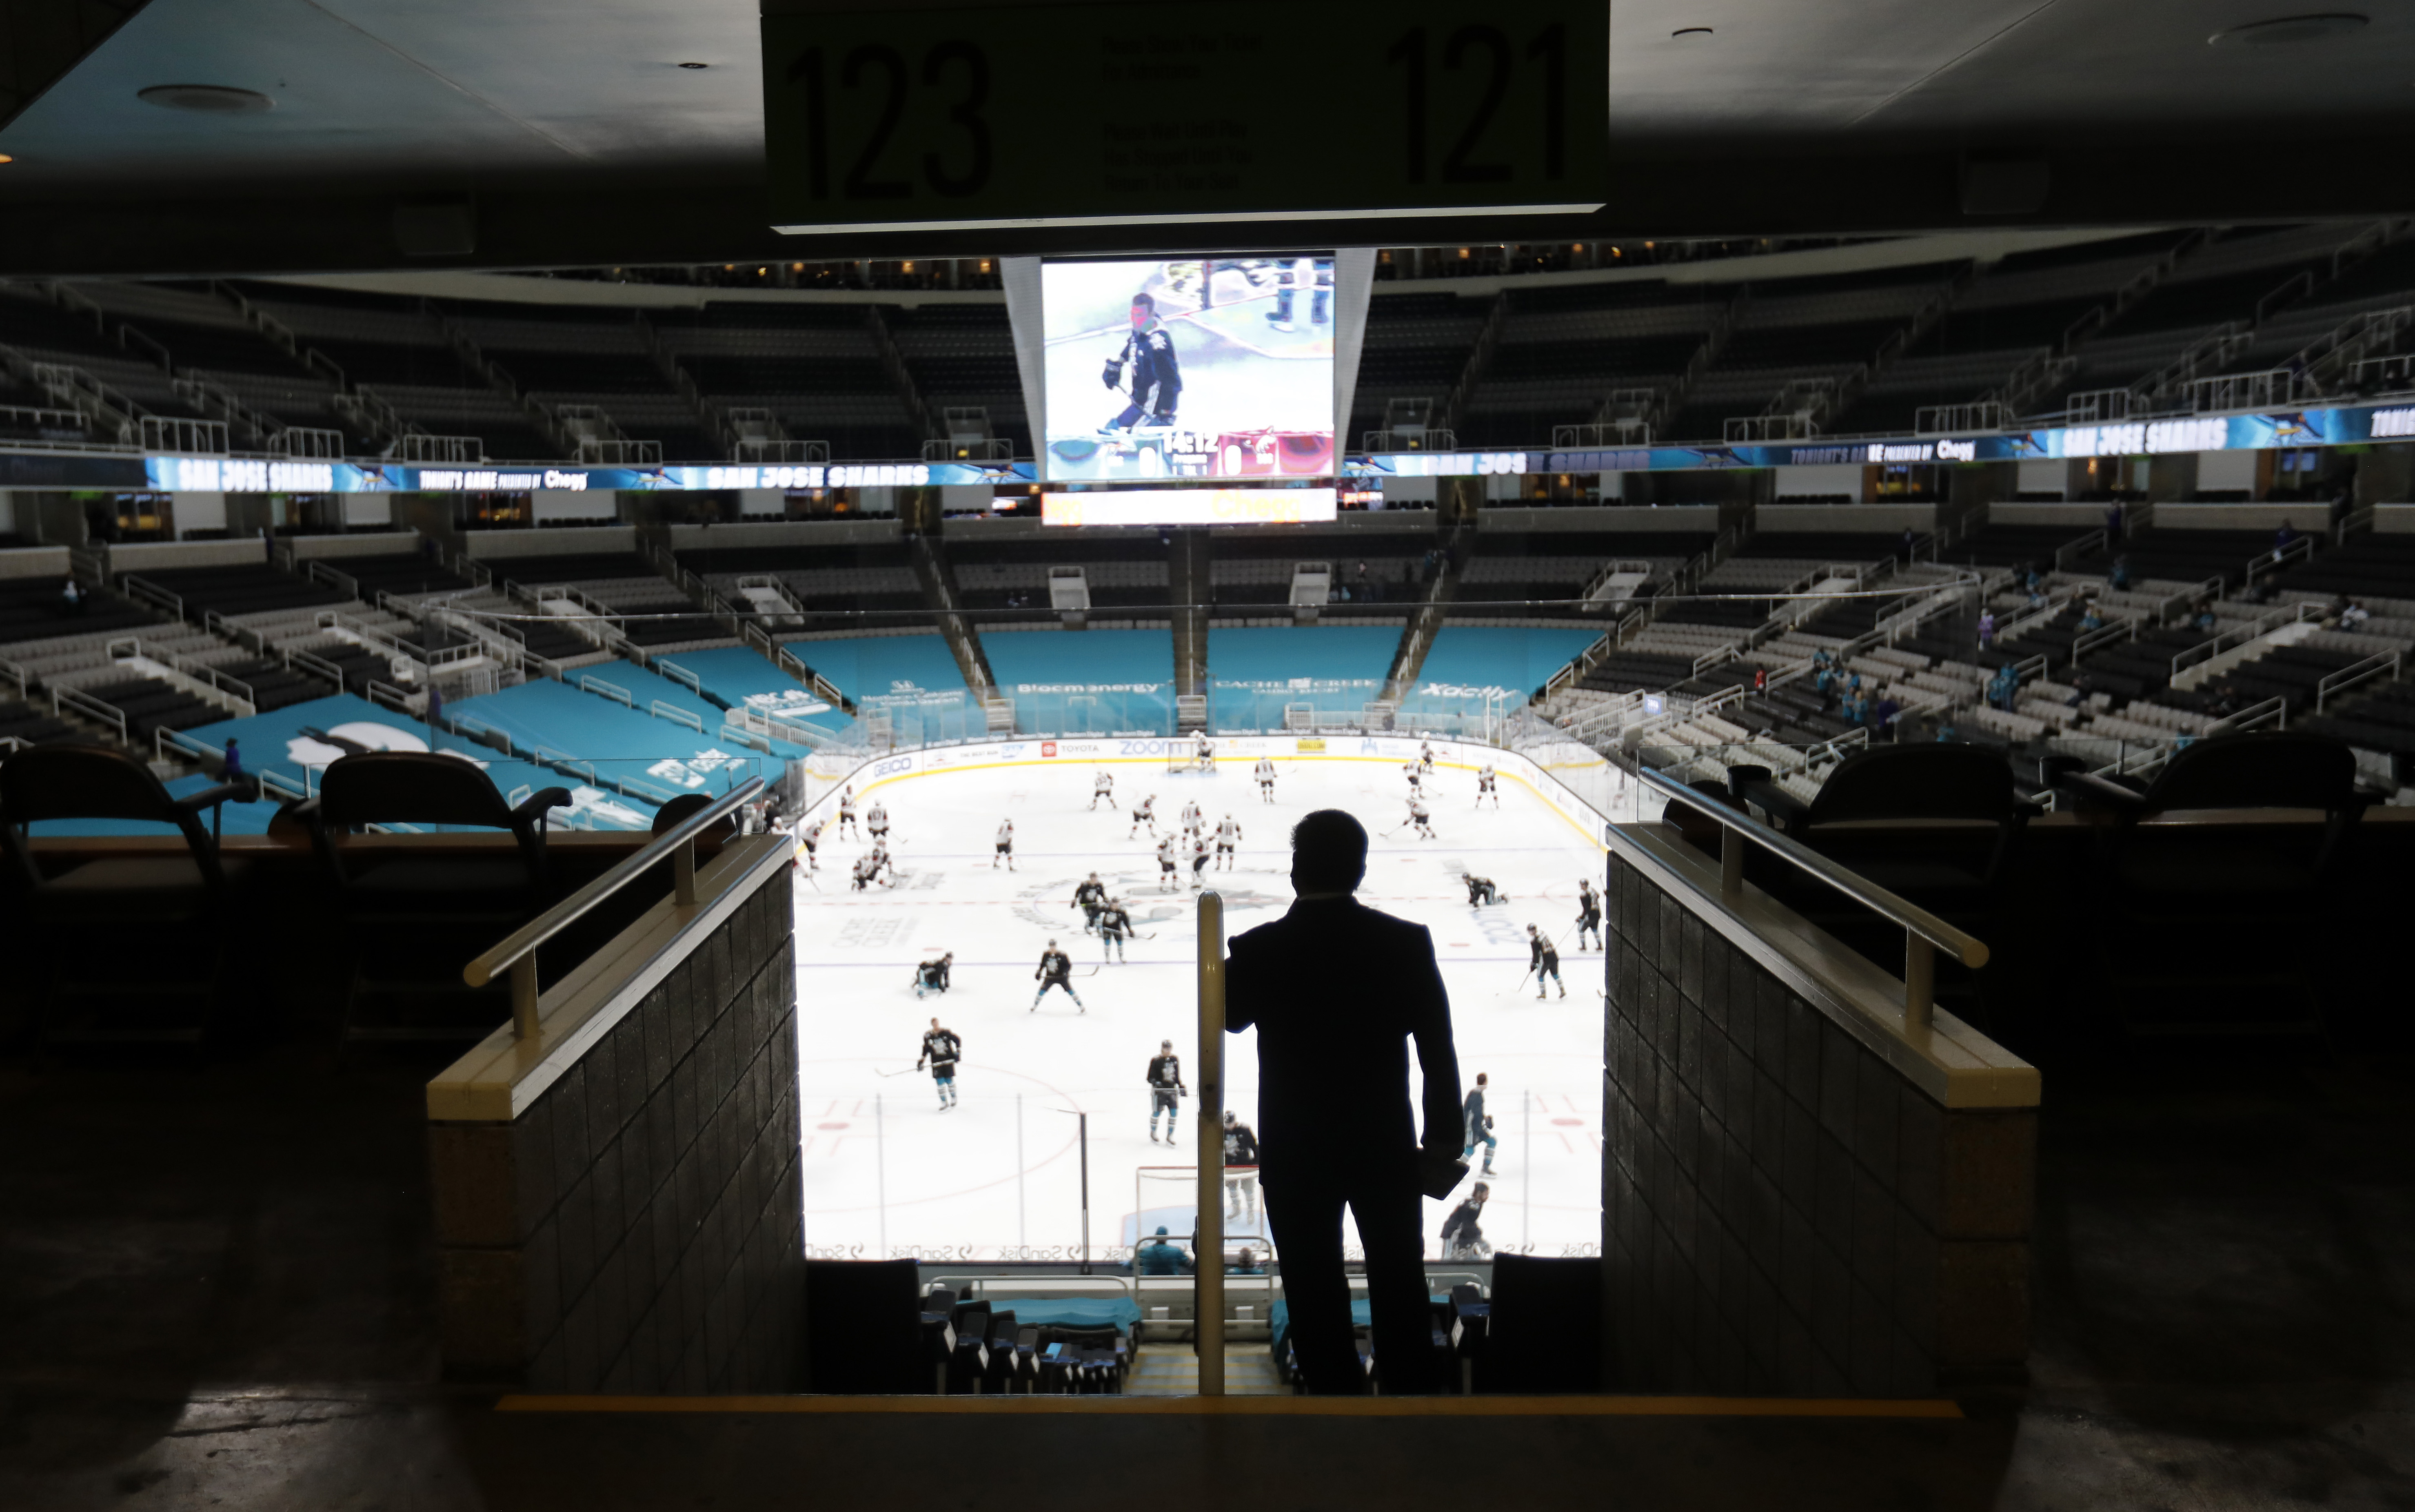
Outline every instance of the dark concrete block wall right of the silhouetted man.
<svg viewBox="0 0 2415 1512"><path fill-rule="evenodd" d="M1946 1109L1608 865L1606 1389L1934 1396L2029 1355L2036 1111Z"/></svg>

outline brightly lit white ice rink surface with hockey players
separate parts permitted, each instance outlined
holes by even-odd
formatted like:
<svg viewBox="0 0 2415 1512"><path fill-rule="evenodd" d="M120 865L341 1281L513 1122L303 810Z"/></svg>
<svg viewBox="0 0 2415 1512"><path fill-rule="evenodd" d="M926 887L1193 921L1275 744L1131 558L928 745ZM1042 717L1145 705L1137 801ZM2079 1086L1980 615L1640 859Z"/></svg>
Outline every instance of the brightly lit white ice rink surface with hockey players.
<svg viewBox="0 0 2415 1512"><path fill-rule="evenodd" d="M1147 742L1162 744L1162 742ZM1270 742L1273 744L1273 742ZM1038 744L1022 746L1038 754ZM1053 746L1051 746L1053 749ZM1094 749L1130 749L1099 742ZM1082 1254L1080 1118L1089 1116L1089 1244L1118 1258L1142 1232L1191 1227L1183 1169L1198 1106L1179 1142L1150 1140L1145 1070L1171 1039L1186 1075L1195 1046L1198 908L1188 865L1159 889L1154 841L1133 836L1133 799L1157 795L1157 828L1198 799L1212 826L1241 824L1232 870L1210 870L1227 932L1278 918L1292 899L1287 836L1309 809L1340 807L1374 836L1360 899L1432 930L1451 995L1461 1080L1490 1077L1497 1249L1594 1254L1601 1191L1601 954L1575 949L1577 882L1601 886L1601 848L1524 783L1502 778L1480 812L1473 768L1444 763L1427 783L1437 838L1406 826L1398 761L1280 761L1275 802L1258 799L1249 758L1215 775L1169 773L1159 758L993 763L865 790L889 809L894 889L850 891L867 841L821 841L821 872L797 886L797 1031L804 1126L807 1244L816 1256L1065 1258ZM874 768L877 770L877 768ZM1092 775L1116 778L1118 809L1089 807ZM1014 870L993 867L1000 819L1014 819ZM1072 891L1092 870L1125 899L1128 964L1101 966ZM1492 877L1509 903L1471 911L1463 870ZM1538 1002L1526 925L1560 940L1567 998ZM1048 940L1075 961L1087 1012L1051 990L1034 1012ZM954 952L954 990L918 1000L913 966ZM915 1072L930 1019L964 1039L959 1106L939 1111ZM1256 1121L1256 1034L1227 1036L1227 1104ZM1333 1097L1362 1089L1335 1082ZM1480 1164L1480 1155L1478 1155ZM1147 1188L1145 1196L1135 1191ZM1466 1186L1456 1196L1466 1196ZM1454 1196L1454 1200L1456 1200ZM1449 1203L1427 1203L1427 1254ZM1355 1234L1352 1234L1355 1241Z"/></svg>

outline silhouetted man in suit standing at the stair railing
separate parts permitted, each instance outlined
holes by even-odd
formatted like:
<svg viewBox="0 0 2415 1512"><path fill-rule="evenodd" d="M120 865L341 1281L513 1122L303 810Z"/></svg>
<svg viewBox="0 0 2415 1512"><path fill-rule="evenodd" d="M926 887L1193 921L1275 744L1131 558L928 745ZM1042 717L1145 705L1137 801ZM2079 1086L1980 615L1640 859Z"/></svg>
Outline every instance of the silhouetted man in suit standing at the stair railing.
<svg viewBox="0 0 2415 1512"><path fill-rule="evenodd" d="M1299 896L1280 920L1234 937L1227 1029L1258 1027L1258 1188L1309 1391L1367 1389L1350 1338L1343 1205L1367 1251L1384 1391L1437 1391L1408 1041L1425 1080L1425 1152L1456 1162L1451 1002L1425 925L1350 896L1364 874L1367 831L1350 814L1319 809L1292 828Z"/></svg>

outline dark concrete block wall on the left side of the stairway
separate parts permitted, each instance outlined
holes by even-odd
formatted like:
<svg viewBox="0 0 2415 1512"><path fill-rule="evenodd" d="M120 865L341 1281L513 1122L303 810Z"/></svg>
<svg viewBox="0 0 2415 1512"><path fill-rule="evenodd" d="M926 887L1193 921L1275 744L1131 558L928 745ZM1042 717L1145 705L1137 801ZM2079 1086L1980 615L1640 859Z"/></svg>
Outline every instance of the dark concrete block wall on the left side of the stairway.
<svg viewBox="0 0 2415 1512"><path fill-rule="evenodd" d="M510 1123L430 1123L447 1372L785 1391L804 1319L778 867Z"/></svg>

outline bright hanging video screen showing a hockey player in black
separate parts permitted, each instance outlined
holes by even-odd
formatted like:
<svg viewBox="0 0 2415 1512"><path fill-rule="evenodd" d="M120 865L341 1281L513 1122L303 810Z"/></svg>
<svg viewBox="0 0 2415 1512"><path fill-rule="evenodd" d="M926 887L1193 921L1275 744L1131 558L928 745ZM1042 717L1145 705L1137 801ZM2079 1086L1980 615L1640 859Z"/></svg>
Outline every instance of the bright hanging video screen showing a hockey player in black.
<svg viewBox="0 0 2415 1512"><path fill-rule="evenodd" d="M1333 258L1043 263L1048 478L1333 471Z"/></svg>

